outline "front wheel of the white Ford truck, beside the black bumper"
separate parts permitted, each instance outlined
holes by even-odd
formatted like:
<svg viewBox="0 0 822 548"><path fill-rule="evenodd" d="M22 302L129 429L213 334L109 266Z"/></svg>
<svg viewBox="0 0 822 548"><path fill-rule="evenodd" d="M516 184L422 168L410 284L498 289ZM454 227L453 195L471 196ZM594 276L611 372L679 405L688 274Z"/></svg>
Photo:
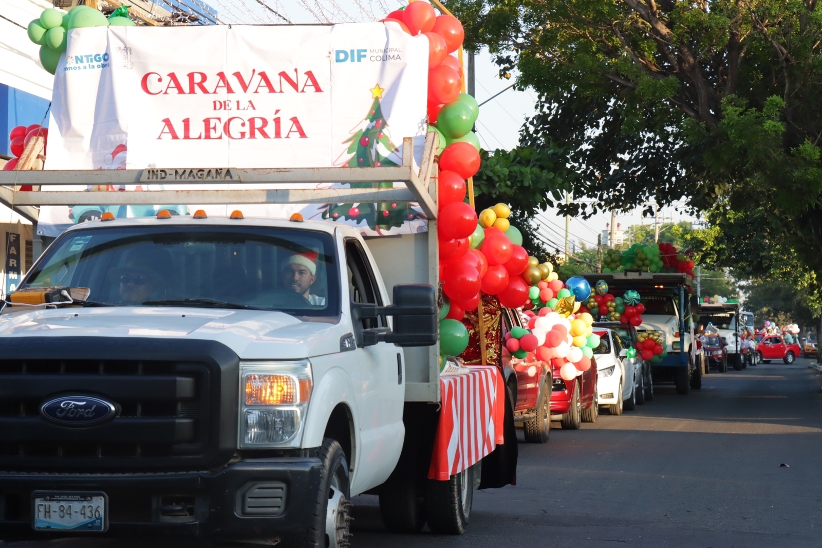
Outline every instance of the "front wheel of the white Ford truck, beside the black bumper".
<svg viewBox="0 0 822 548"><path fill-rule="evenodd" d="M322 462L313 525L308 527L304 539L284 539L284 544L306 548L349 546L352 504L349 502L349 464L345 453L337 440L326 438L313 456Z"/></svg>

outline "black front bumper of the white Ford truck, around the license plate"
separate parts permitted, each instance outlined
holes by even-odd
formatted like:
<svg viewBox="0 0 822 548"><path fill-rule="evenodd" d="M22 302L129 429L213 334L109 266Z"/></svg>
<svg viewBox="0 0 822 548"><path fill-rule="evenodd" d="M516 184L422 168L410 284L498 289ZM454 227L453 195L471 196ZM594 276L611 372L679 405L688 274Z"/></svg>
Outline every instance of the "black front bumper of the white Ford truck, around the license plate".
<svg viewBox="0 0 822 548"><path fill-rule="evenodd" d="M283 482L279 515L244 515L243 494L257 484ZM35 490L103 491L109 496L111 536L173 534L230 539L272 538L305 531L321 483L321 462L312 457L249 459L214 472L145 474L50 474L0 471L0 539L68 536L32 530ZM182 501L182 502L181 502ZM188 504L191 503L191 506ZM182 504L182 513L169 507ZM172 512L173 513L173 512ZM87 533L100 535L100 533Z"/></svg>

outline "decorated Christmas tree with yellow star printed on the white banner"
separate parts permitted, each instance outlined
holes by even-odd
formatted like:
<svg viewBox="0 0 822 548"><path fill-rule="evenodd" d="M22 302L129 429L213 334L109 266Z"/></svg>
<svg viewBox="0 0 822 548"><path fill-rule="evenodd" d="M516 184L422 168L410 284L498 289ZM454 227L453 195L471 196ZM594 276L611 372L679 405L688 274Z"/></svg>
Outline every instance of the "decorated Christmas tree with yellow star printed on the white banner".
<svg viewBox="0 0 822 548"><path fill-rule="evenodd" d="M351 132L351 137L343 144L349 145L346 151L339 156L335 165L347 167L380 167L400 165L399 147L391 142L388 133L388 123L382 114L382 92L385 89L379 84L371 90L372 104L368 114ZM349 156L350 155L350 156ZM370 188L372 183L350 183L351 188ZM378 188L392 188L394 183L383 181L377 183ZM376 230L390 230L402 226L406 221L424 219L422 213L412 209L408 202L376 202L376 203L341 203L329 205L322 212L323 219L338 221L348 219L352 221L366 221L369 228Z"/></svg>

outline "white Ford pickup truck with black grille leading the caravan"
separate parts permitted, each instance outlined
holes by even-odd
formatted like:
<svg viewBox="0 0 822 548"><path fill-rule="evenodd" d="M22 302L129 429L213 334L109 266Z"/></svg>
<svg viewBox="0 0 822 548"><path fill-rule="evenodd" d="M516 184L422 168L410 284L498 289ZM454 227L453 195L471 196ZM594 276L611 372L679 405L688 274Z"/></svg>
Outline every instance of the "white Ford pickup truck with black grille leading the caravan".
<svg viewBox="0 0 822 548"><path fill-rule="evenodd" d="M348 546L349 500L372 493L390 529L464 532L482 461L427 479L440 403L432 136L419 179L410 151L373 172L243 175L404 180L435 204L427 232L367 241L300 216L160 211L60 235L0 315L0 530ZM2 172L0 190L14 195L0 201L29 215L38 200L164 203L153 192L8 188L147 171ZM259 199L415 201L409 188ZM176 192L206 203L260 194Z"/></svg>

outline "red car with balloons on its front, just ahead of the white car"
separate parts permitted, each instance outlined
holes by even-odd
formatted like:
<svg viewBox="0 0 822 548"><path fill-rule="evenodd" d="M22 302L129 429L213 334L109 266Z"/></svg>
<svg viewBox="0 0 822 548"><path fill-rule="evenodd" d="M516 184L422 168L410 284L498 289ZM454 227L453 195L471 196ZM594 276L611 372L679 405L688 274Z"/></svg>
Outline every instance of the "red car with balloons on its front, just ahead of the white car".
<svg viewBox="0 0 822 548"><path fill-rule="evenodd" d="M559 420L562 428L569 430L577 430L583 422L596 422L599 416L597 361L592 358L591 369L573 380L563 380L559 369L552 368L552 376L551 420Z"/></svg>

